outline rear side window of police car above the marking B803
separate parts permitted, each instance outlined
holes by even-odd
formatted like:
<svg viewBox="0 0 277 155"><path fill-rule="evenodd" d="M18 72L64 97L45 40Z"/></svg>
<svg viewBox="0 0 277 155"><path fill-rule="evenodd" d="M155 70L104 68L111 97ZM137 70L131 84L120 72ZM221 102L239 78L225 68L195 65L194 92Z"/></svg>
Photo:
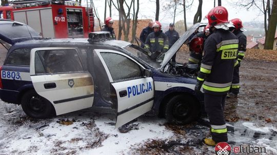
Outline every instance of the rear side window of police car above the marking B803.
<svg viewBox="0 0 277 155"><path fill-rule="evenodd" d="M6 65L30 66L30 51L30 48L19 48L13 50L6 60Z"/></svg>

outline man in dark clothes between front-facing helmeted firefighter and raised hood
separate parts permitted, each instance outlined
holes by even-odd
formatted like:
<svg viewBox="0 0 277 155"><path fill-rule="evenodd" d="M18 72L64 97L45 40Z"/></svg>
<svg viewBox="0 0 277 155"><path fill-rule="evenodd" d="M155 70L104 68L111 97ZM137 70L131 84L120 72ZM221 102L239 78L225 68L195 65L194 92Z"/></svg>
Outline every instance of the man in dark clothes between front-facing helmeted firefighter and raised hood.
<svg viewBox="0 0 277 155"><path fill-rule="evenodd" d="M174 23L169 24L169 30L165 32L168 42L169 42L169 48L180 38L179 33L175 31L175 25ZM176 54L172 57L172 62L176 62L175 60Z"/></svg>

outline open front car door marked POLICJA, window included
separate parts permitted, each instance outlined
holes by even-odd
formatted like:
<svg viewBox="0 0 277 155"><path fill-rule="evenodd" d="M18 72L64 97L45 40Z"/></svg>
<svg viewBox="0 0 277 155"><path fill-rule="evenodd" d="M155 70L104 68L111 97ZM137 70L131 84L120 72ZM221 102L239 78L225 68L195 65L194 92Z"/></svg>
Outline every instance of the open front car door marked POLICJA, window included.
<svg viewBox="0 0 277 155"><path fill-rule="evenodd" d="M115 128L141 116L153 107L154 83L144 76L145 68L131 57L115 50L95 49L116 91Z"/></svg>

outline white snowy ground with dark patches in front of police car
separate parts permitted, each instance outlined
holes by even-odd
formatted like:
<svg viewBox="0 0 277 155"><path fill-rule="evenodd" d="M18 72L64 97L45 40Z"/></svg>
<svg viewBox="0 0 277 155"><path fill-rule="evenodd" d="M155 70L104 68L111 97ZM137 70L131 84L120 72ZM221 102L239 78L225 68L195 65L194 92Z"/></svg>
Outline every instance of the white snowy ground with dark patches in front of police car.
<svg viewBox="0 0 277 155"><path fill-rule="evenodd" d="M201 123L170 126L165 119L142 116L131 131L120 133L114 129L114 114L91 109L43 120L27 117L21 106L3 101L0 109L0 154L214 153L214 147L199 143L208 133ZM277 154L274 126L243 121L228 126L229 141L235 142L231 147L250 144L266 147L266 154Z"/></svg>

